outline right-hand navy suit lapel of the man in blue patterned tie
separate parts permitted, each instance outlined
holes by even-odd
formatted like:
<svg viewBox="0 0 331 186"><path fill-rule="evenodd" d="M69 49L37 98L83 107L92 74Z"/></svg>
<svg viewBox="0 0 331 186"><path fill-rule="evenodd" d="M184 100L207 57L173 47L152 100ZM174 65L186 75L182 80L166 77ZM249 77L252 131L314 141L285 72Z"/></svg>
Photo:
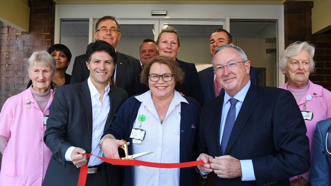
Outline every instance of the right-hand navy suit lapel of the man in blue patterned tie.
<svg viewBox="0 0 331 186"><path fill-rule="evenodd" d="M231 150L234 142L236 141L237 137L239 136L242 128L245 126L247 120L249 119L252 111L258 104L258 97L256 86L251 83L249 90L247 91L246 97L241 105L239 114L237 119L234 123L230 139L228 141L227 149L225 150L225 154L228 154ZM219 138L218 138L219 139Z"/></svg>

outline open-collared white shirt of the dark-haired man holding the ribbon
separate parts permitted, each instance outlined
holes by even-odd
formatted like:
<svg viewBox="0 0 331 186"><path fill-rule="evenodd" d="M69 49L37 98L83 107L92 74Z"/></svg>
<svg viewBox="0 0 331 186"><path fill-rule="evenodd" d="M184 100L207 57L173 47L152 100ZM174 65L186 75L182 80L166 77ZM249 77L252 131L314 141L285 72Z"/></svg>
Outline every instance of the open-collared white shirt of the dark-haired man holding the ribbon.
<svg viewBox="0 0 331 186"><path fill-rule="evenodd" d="M88 79L88 85L91 94L91 101L92 101L92 150L91 153L95 156L103 157L103 153L99 148L99 141L103 134L104 126L108 117L109 109L111 108L111 102L109 101L109 83L104 88L104 94L102 97L102 102L99 101L100 93L98 92L97 88L92 83L90 77ZM66 161L71 160L71 152L74 149L74 146L71 146L67 149L65 154ZM95 166L103 163L102 160L98 159L97 157L91 156L89 159L88 166Z"/></svg>

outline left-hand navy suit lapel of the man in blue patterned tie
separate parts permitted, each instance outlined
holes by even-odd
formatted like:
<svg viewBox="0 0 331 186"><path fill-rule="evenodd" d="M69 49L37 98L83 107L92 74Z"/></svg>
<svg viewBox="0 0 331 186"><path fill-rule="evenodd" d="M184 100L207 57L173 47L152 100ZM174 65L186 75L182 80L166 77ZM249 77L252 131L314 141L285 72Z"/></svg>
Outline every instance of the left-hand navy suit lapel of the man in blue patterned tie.
<svg viewBox="0 0 331 186"><path fill-rule="evenodd" d="M220 134L219 134L219 129L220 129L220 119L222 117L222 108L223 108L223 102L224 102L224 91L220 93L219 97L215 99L215 106L214 109L216 111L214 120L212 120L212 123L216 123L213 126L213 134L215 141L213 144L215 144L214 148L217 149L218 154L222 154L220 151L220 146L219 146L219 139L220 139Z"/></svg>

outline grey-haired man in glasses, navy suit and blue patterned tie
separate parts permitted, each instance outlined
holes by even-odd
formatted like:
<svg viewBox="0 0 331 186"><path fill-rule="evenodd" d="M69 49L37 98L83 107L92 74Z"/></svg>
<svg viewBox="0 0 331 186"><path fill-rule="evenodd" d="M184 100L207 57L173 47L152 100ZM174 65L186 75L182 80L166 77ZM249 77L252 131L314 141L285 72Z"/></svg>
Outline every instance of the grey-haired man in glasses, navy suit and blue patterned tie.
<svg viewBox="0 0 331 186"><path fill-rule="evenodd" d="M220 46L212 63L225 91L202 108L201 174L211 173L215 185L290 185L289 177L310 165L307 130L293 95L251 83L251 61L237 46Z"/></svg>

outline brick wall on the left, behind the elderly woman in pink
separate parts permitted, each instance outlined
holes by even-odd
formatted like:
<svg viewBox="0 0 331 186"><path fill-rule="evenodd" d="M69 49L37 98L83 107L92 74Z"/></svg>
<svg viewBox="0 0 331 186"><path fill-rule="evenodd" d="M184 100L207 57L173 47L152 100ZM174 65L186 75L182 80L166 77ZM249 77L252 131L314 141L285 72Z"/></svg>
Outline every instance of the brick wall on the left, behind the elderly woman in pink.
<svg viewBox="0 0 331 186"><path fill-rule="evenodd" d="M30 0L30 30L21 33L1 23L0 34L0 110L7 98L26 88L29 82L27 59L34 51L47 50L54 43L55 3ZM0 165L2 154L0 153Z"/></svg>

